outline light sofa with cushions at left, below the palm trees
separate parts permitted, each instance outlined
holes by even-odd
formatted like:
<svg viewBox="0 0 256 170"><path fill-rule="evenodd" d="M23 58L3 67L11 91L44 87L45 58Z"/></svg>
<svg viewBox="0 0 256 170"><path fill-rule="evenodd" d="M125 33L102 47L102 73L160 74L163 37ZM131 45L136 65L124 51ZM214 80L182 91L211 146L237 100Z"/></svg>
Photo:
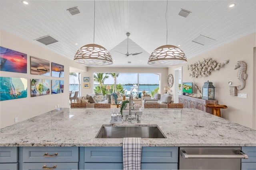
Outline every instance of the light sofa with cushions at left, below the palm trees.
<svg viewBox="0 0 256 170"><path fill-rule="evenodd" d="M94 108L95 103L105 104L108 103L102 93L91 93L76 98L77 103L86 103L86 107Z"/></svg>

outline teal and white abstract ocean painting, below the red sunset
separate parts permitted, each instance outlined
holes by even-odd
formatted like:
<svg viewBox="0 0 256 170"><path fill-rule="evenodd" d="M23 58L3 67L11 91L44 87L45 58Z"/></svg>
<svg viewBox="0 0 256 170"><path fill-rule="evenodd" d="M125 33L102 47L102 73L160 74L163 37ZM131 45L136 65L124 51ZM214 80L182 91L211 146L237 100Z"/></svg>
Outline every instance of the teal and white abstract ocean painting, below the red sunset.
<svg viewBox="0 0 256 170"><path fill-rule="evenodd" d="M0 101L26 98L28 81L26 78L0 77Z"/></svg>

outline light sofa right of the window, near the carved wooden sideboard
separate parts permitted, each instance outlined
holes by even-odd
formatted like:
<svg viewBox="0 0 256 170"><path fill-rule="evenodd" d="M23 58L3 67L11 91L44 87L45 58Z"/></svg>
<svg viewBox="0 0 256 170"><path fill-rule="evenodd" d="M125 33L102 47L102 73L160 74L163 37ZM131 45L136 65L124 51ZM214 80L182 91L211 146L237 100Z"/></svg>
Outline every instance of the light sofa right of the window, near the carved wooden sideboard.
<svg viewBox="0 0 256 170"><path fill-rule="evenodd" d="M159 103L160 104L160 108L167 108L167 104L168 103L173 103L172 101L172 96L168 95L168 94L159 94L159 93L155 93L153 98L142 98L142 106L144 107L145 103Z"/></svg>

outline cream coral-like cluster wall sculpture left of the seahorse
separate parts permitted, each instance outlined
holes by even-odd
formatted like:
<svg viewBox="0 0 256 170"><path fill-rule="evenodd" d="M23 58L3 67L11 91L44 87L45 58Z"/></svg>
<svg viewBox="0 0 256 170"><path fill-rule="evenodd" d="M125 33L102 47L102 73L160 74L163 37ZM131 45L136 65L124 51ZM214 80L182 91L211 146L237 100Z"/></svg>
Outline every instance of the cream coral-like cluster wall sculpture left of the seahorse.
<svg viewBox="0 0 256 170"><path fill-rule="evenodd" d="M201 63L200 61L188 65L188 70L192 71L192 74L189 74L192 78L201 78L205 76L209 76L212 71L216 71L219 68L223 67L225 64L228 64L229 60L225 60L224 63L217 63L211 58L204 59Z"/></svg>

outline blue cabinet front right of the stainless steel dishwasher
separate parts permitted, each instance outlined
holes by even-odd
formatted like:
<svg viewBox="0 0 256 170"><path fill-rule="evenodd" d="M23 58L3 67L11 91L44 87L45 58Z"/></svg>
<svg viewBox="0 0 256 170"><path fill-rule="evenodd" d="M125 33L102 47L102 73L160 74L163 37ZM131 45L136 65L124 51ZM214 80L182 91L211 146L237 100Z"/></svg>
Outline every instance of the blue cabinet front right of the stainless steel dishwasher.
<svg viewBox="0 0 256 170"><path fill-rule="evenodd" d="M256 170L256 147L242 147L248 159L241 160L241 170Z"/></svg>

